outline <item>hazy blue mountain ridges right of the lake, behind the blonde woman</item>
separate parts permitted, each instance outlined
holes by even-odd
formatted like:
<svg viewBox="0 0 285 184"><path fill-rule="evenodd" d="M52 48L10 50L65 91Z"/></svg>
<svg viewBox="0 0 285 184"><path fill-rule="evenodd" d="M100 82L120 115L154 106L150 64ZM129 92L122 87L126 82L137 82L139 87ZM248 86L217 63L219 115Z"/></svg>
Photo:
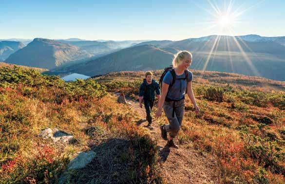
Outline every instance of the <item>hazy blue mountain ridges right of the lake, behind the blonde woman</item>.
<svg viewBox="0 0 285 184"><path fill-rule="evenodd" d="M173 54L193 54L191 69L229 72L285 80L285 37L209 36L180 41L147 41L61 71L85 75L163 69Z"/></svg>

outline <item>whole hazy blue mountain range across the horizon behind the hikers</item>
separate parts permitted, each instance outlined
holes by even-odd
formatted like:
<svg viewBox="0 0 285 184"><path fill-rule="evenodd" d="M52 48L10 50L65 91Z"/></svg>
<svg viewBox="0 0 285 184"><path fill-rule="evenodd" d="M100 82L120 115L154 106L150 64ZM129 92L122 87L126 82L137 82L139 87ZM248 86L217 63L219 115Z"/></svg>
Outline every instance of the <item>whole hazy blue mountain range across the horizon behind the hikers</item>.
<svg viewBox="0 0 285 184"><path fill-rule="evenodd" d="M35 47L33 42L44 43ZM194 70L285 80L285 37L212 35L179 41L77 38L47 41L36 38L33 42L10 55L5 62L53 69L56 73L92 76L115 71L163 69L171 64L173 54L188 50L193 55L190 68Z"/></svg>

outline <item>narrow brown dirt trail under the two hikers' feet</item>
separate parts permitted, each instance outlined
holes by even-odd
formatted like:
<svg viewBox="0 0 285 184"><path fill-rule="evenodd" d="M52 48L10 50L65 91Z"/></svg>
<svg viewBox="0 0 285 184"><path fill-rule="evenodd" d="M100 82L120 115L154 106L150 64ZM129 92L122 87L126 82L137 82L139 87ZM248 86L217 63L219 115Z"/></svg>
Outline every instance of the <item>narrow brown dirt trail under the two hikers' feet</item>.
<svg viewBox="0 0 285 184"><path fill-rule="evenodd" d="M145 109L139 108L137 101L127 99L141 116L141 124L146 129ZM214 182L212 176L214 159L210 155L201 155L194 148L178 145L179 149L165 147L166 141L161 138L159 125L152 119L150 135L157 140L161 160L162 175L170 184L210 184ZM177 141L176 141L177 142Z"/></svg>

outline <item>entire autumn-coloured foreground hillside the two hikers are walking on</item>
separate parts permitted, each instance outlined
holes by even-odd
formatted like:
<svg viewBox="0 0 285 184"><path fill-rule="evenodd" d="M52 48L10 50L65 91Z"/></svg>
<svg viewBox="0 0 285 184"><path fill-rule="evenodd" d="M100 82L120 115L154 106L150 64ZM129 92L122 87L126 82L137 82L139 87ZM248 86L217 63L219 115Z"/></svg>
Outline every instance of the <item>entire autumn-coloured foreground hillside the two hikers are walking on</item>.
<svg viewBox="0 0 285 184"><path fill-rule="evenodd" d="M137 104L144 72L64 82L1 68L0 183L285 183L285 83L192 72L201 112L187 97L177 150L159 135L165 115L145 127ZM153 73L157 80L162 71ZM87 165L70 162L84 154Z"/></svg>

